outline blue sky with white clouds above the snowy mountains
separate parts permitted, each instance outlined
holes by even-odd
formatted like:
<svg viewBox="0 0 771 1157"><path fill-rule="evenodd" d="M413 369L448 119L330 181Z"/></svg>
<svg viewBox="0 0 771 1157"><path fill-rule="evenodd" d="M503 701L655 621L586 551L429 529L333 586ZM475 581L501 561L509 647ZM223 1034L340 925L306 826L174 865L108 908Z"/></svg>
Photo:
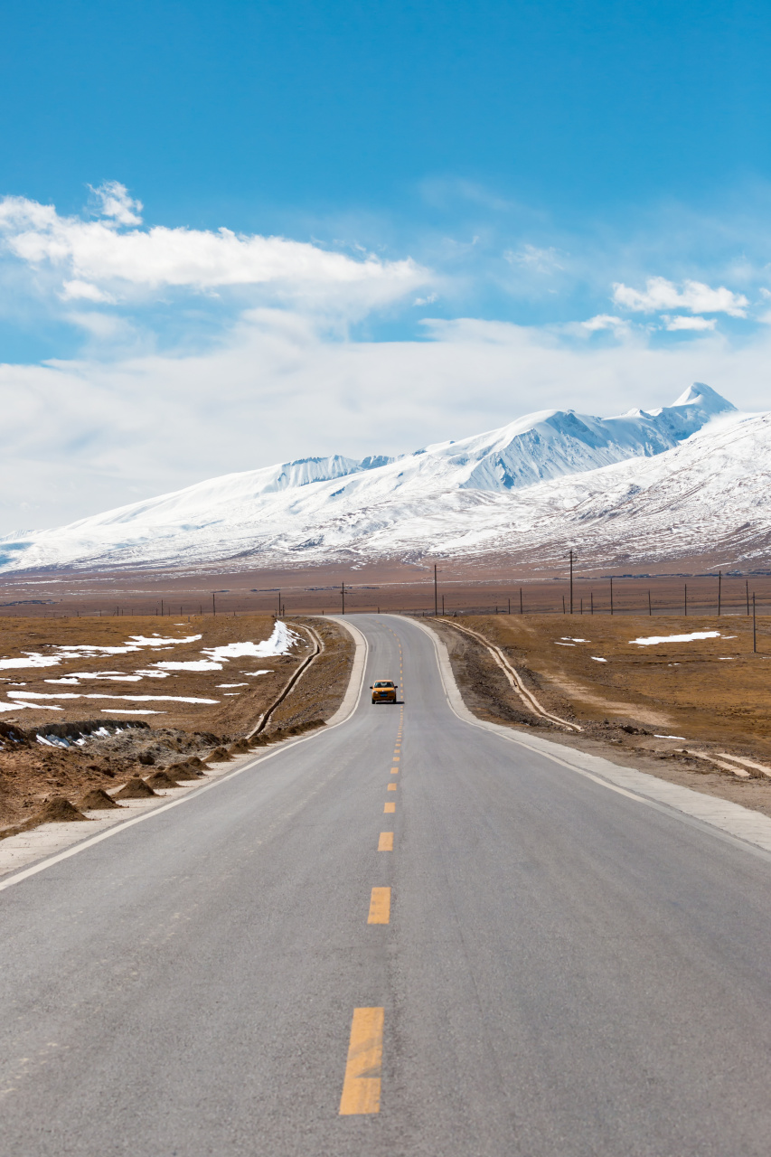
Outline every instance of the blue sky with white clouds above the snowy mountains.
<svg viewBox="0 0 771 1157"><path fill-rule="evenodd" d="M0 531L693 378L764 407L770 40L761 3L6 9Z"/></svg>

